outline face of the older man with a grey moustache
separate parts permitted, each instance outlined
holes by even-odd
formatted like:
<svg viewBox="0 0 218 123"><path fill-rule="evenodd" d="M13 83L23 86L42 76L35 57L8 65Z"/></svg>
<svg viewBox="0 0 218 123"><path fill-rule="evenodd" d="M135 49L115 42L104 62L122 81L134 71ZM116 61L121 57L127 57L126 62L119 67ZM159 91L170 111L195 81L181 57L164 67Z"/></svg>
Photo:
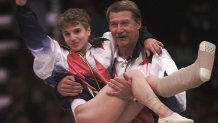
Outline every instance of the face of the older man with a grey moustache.
<svg viewBox="0 0 218 123"><path fill-rule="evenodd" d="M141 22L136 23L129 11L110 12L109 29L118 47L134 47Z"/></svg>

